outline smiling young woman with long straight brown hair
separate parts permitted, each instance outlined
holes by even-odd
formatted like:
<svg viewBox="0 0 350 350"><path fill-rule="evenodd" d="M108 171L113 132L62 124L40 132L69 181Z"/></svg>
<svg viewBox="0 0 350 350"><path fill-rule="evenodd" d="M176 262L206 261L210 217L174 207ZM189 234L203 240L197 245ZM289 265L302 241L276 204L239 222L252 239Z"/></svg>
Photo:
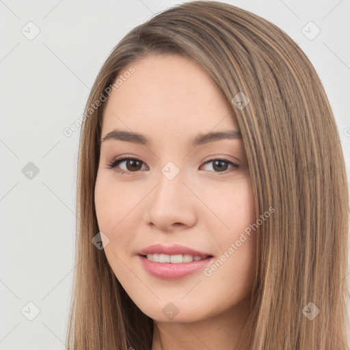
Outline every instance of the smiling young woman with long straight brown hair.
<svg viewBox="0 0 350 350"><path fill-rule="evenodd" d="M348 349L348 187L299 46L193 1L130 31L79 145L67 349Z"/></svg>

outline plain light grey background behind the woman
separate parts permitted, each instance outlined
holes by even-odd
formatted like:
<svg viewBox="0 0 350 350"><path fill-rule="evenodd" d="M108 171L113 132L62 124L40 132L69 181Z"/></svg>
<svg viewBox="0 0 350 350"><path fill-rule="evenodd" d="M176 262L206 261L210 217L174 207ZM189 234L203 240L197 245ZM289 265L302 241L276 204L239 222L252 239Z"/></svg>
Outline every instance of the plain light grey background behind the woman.
<svg viewBox="0 0 350 350"><path fill-rule="evenodd" d="M226 2L275 23L308 55L332 104L349 174L350 1ZM1 350L64 349L79 131L70 137L63 131L83 114L98 70L120 39L178 3L0 0ZM313 40L310 21L321 30ZM40 33L29 40L36 27ZM22 171L29 162L39 170L31 179ZM40 313L29 321L36 307Z"/></svg>

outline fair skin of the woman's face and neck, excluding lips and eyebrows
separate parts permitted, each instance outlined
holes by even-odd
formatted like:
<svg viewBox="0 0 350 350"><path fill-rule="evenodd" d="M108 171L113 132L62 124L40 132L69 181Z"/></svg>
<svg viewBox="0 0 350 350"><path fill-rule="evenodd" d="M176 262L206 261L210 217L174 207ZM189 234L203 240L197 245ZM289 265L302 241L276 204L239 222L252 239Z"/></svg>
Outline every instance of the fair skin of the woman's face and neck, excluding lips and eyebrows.
<svg viewBox="0 0 350 350"><path fill-rule="evenodd" d="M152 55L132 66L133 75L107 101L101 135L118 128L142 133L151 144L101 142L95 204L98 226L109 239L107 260L126 293L154 320L152 350L237 349L250 314L254 231L210 276L200 270L179 280L156 278L137 252L178 243L217 259L255 221L242 140L189 146L198 133L239 129L196 62ZM122 161L116 168L131 174L118 174L109 167L118 156L141 163ZM213 160L223 158L228 163L215 167ZM172 180L161 172L169 161L180 170ZM178 310L173 319L162 312L169 302Z"/></svg>

